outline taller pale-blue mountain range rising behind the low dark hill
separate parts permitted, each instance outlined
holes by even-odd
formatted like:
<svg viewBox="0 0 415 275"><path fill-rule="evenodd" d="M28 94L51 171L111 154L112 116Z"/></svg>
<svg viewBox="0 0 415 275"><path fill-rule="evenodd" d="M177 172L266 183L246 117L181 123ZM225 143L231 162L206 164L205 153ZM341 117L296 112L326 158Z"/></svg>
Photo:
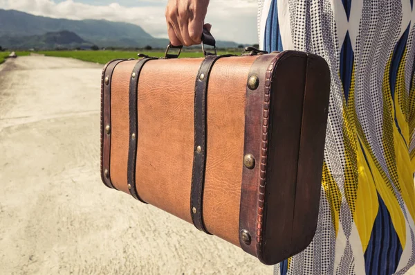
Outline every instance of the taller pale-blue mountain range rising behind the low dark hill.
<svg viewBox="0 0 415 275"><path fill-rule="evenodd" d="M32 37L33 41L46 33L59 33L64 30L79 35L84 41L100 47L138 48L152 46L164 48L168 39L155 38L140 26L106 20L68 20L30 15L17 10L0 9L0 45L8 41L9 48L21 44L22 37ZM64 35L65 36L65 35ZM236 47L234 42L216 42L219 47ZM4 44L6 45L6 44ZM5 46L3 46L5 47Z"/></svg>

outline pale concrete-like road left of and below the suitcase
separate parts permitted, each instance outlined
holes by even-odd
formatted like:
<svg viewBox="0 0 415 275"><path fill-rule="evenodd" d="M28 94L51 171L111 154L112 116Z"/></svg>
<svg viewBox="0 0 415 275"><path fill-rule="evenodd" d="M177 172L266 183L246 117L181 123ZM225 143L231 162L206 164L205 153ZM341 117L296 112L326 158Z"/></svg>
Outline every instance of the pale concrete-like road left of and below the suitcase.
<svg viewBox="0 0 415 275"><path fill-rule="evenodd" d="M272 274L101 183L101 65L0 66L0 274Z"/></svg>

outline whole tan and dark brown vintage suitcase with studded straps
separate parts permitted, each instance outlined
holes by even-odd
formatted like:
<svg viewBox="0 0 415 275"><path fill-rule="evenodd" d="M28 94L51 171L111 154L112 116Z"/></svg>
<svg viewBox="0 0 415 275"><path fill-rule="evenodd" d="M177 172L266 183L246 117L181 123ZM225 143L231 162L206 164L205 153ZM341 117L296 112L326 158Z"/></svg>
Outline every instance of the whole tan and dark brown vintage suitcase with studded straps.
<svg viewBox="0 0 415 275"><path fill-rule="evenodd" d="M104 184L267 265L305 249L320 201L326 62L297 51L168 51L104 67Z"/></svg>

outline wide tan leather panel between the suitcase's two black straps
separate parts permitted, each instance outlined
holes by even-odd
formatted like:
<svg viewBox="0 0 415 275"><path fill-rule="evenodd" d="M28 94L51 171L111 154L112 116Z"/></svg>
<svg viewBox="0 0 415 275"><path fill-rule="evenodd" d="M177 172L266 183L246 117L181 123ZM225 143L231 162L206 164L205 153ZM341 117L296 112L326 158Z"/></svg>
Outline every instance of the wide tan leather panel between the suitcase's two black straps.
<svg viewBox="0 0 415 275"><path fill-rule="evenodd" d="M202 61L150 60L138 83L138 194L187 222L192 222L194 83Z"/></svg>

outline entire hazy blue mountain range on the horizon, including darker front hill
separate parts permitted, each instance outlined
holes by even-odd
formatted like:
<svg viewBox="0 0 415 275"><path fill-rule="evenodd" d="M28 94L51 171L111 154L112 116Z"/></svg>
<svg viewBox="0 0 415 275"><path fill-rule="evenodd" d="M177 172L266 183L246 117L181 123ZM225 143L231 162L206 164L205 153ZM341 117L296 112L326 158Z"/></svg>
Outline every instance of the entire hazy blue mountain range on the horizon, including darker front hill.
<svg viewBox="0 0 415 275"><path fill-rule="evenodd" d="M84 48L90 45L118 48L165 48L168 39L152 37L140 26L106 20L69 20L0 9L0 46L3 48ZM235 42L217 41L221 48Z"/></svg>

